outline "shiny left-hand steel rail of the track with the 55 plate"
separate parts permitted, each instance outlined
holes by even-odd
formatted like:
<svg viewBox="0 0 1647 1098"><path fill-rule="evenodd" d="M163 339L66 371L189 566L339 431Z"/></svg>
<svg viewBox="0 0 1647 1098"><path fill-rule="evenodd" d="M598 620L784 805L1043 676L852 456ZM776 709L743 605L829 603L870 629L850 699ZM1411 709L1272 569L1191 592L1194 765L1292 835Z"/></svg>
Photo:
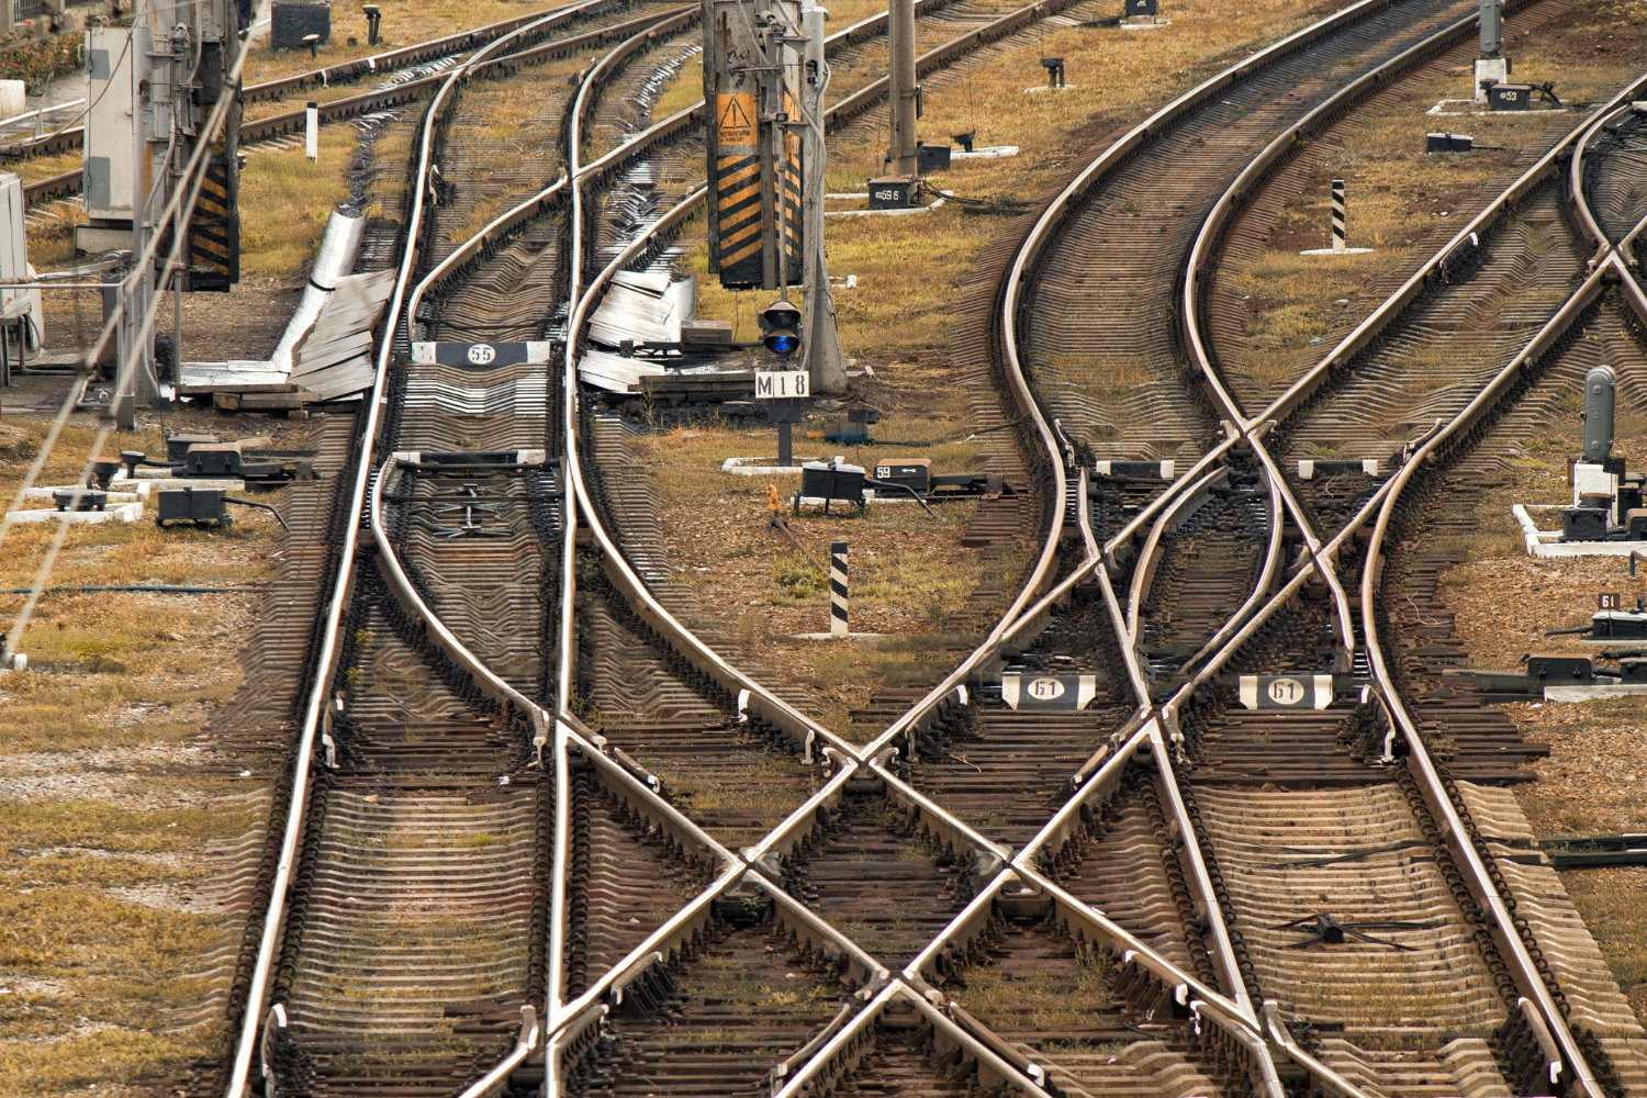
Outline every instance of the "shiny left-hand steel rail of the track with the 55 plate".
<svg viewBox="0 0 1647 1098"><path fill-rule="evenodd" d="M226 1091L227 1098L244 1098L247 1093L252 1057L257 1054L259 1047L257 1034L262 1026L264 998L268 993L270 970L280 945L280 928L285 917L287 894L292 887L292 876L296 868L296 854L303 835L315 747L321 731L326 731L331 723L331 680L338 670L338 660L341 657L338 632L354 593L356 556L361 542L359 515L367 504L372 479L371 454L376 446L382 408L387 402L385 385L389 377L389 357L395 344L394 333L405 303L407 285L410 283L412 272L420 258L418 242L422 237L423 212L428 196L427 179L433 155L435 125L458 84L476 66L484 63L488 58L496 56L499 51L506 49L517 38L527 35L534 28L535 25L529 23L509 35L504 35L502 38L494 40L488 46L476 51L476 54L466 63L448 72L423 115L423 125L420 127L418 135L417 168L413 171L413 186L410 188L412 211L404 229L405 254L395 275L395 288L390 296L384 334L379 337L376 375L372 380L371 397L366 402L362 444L356 463L354 482L349 491L349 507L344 512L349 515L349 522L344 525L343 545L339 547L338 555L338 573L333 581L331 596L326 603L326 616L323 619L320 649L316 652L316 672L293 754L292 793L287 802L287 821L280 844L280 858L275 866L268 905L264 914L264 930L259 942L257 958L252 966L252 979L245 999L245 1014L240 1021L240 1034L231 1062L229 1086Z"/></svg>

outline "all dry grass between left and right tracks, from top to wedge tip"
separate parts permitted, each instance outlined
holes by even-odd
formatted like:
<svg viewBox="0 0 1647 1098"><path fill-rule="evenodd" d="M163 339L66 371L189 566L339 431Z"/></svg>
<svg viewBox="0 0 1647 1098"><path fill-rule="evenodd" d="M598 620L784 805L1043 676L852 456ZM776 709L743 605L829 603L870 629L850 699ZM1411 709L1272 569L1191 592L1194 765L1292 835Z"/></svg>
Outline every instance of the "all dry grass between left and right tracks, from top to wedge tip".
<svg viewBox="0 0 1647 1098"><path fill-rule="evenodd" d="M1018 5L991 7L1006 12ZM957 161L935 183L962 196L1033 199L1069 170L1077 150L1090 151L1099 135L1118 132L1232 53L1250 51L1299 26L1313 18L1311 10L1298 0L1263 0L1243 3L1232 15L1227 5L1187 0L1174 3L1173 26L1148 35L1057 28L1044 36L1034 31L996 44L924 81L921 132L929 140L942 140L977 128L980 143L1019 145L1023 155ZM1099 12L1089 3L1072 12L1077 18L1092 18L1107 8ZM833 5L832 16L832 31L860 18ZM922 48L929 48L954 30L927 26L921 33ZM1046 53L1062 54L1072 82L1085 86L1056 97L1026 95L1024 87L1039 82L1039 58ZM884 43L851 51L835 63L832 99L883 71ZM1097 79L1100 72L1102 81ZM688 84L682 77L677 87L692 87L697 95L695 81ZM684 99L687 92L679 91L679 95ZM827 189L861 191L866 178L881 173L883 140L875 133L884 135L884 109L871 117L879 122L861 122L832 145ZM858 278L855 290L837 290L835 303L845 352L875 370L873 379L853 384L856 397L881 410L873 436L963 440L975 426L968 392L957 384L947 347L967 272L1000 230L1000 219L965 214L957 204L912 217L828 222L832 273ZM688 232L688 239L698 237L688 258L698 275L698 313L731 321L736 339L753 339L756 309L771 295L721 290L707 273L702 232L702 221L695 234ZM1094 364L1094 370L1113 374L1115 384L1128 377L1123 362ZM954 652L968 647L967 639L945 634L945 619L977 584L1015 589L1034 550L1026 538L1016 553L988 563L963 550L957 535L970 515L967 504L945 505L937 520L909 504L871 507L866 519L805 515L792 525L814 558L824 560L832 538L845 538L853 547L853 629L894 635L876 642L796 642L792 634L825 629L825 596L817 586L782 581L792 571L792 547L766 532L764 479L746 481L718 471L730 456L774 453L771 428L700 431L693 440L675 433L642 446L660 489L660 528L670 560L702 596L703 616L746 650L759 654L763 665L782 667L786 678L810 683L820 698L819 714L840 729L847 728L847 711L865 705L876 686L924 685L939 678L954 662ZM924 454L942 472L982 464L977 443L860 451L807 443L797 431L797 456L837 453L858 464L893 454ZM786 495L794 491L789 479L774 482Z"/></svg>

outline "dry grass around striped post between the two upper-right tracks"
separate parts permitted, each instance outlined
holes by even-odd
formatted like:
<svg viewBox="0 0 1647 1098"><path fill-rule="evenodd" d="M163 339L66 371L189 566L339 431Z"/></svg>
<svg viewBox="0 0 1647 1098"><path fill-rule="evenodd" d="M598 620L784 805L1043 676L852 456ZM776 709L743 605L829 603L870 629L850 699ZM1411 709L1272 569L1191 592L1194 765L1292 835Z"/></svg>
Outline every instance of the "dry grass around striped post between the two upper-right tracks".
<svg viewBox="0 0 1647 1098"><path fill-rule="evenodd" d="M1639 76L1647 49L1640 16L1640 3L1604 3L1578 12L1533 10L1510 21L1505 46L1515 77L1553 79L1563 100L1575 104L1573 112L1425 114L1441 99L1467 94L1474 58L1467 43L1321 135L1276 183L1291 193L1267 249L1220 273L1224 288L1247 305L1245 337L1219 347L1225 370L1245 380L1247 392L1275 395L1313 365L1379 305L1385 291L1380 278L1426 258L1525 168L1519 160L1525 150L1575 125L1583 104L1599 102ZM1425 133L1438 128L1504 148L1426 155ZM1331 179L1347 183L1349 244L1372 247L1370 255L1299 255L1329 244ZM1456 361L1436 365L1458 370Z"/></svg>

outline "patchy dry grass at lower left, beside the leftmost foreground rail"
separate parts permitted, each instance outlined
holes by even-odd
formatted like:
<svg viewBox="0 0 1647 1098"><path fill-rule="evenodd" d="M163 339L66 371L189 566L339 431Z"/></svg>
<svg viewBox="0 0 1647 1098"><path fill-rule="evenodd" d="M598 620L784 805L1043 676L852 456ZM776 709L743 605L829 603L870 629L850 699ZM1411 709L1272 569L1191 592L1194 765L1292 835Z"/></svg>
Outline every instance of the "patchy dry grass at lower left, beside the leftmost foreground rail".
<svg viewBox="0 0 1647 1098"><path fill-rule="evenodd" d="M13 421L15 423L15 421ZM0 454L10 499L43 430ZM77 474L91 431L64 433L43 482ZM163 446L120 435L112 449ZM267 578L267 517L229 532L150 522L76 527L51 584L244 586ZM53 527L18 525L0 588L33 581ZM0 1077L64 1095L180 1070L219 1027L199 1006L240 917L199 886L216 843L262 826L272 775L201 774L189 741L240 678L250 594L48 594L0 677ZM0 596L13 627L21 596ZM255 765L255 764L252 764Z"/></svg>

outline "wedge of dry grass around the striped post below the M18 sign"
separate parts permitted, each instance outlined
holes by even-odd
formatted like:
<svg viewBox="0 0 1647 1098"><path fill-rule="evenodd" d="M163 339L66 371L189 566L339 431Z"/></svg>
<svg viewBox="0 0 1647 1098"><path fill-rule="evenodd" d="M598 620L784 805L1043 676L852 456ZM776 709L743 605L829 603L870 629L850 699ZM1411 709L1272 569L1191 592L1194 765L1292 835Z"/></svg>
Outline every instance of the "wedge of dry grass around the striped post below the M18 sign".
<svg viewBox="0 0 1647 1098"><path fill-rule="evenodd" d="M797 436L804 425L797 425ZM947 416L883 415L871 436L904 443L965 435ZM975 502L950 502L927 515L911 502L870 504L860 517L833 507L825 515L807 509L789 517L789 528L819 565L827 566L830 542L850 548L851 629L888 634L884 639L820 644L796 634L828 630L824 576L787 538L768 528L766 484L787 499L799 487L794 474L741 477L720 471L728 456L759 456L776 449L776 433L756 428L693 428L642 436L634 443L656 489L677 581L687 584L718 629L766 667L782 667L786 678L815 688L824 719L843 729L848 711L868 703L876 685L931 682L952 662L949 649L960 637L945 634L950 614L962 609L973 586L1010 583L1021 558L983 561L959 545ZM796 440L796 454L835 456L873 466L899 456L926 454L939 471L980 464L977 443L845 446ZM1028 551L1028 548L1026 548Z"/></svg>

